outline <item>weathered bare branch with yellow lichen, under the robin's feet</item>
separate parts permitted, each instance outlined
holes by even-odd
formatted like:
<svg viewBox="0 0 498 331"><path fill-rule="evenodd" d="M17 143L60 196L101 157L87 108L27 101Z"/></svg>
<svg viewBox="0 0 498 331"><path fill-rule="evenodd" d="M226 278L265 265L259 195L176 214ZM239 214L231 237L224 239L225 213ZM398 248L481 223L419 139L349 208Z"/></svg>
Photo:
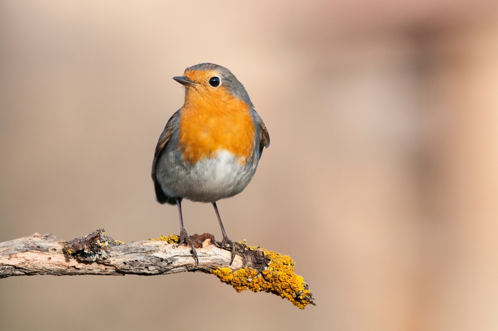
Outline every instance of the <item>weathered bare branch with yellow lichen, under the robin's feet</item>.
<svg viewBox="0 0 498 331"><path fill-rule="evenodd" d="M314 305L308 283L294 273L285 255L244 243L230 264L231 251L211 234L193 235L199 264L189 247L175 243L178 236L124 243L99 229L65 241L35 233L0 243L0 278L23 275L167 275L185 271L214 274L237 292L270 292L304 309Z"/></svg>

